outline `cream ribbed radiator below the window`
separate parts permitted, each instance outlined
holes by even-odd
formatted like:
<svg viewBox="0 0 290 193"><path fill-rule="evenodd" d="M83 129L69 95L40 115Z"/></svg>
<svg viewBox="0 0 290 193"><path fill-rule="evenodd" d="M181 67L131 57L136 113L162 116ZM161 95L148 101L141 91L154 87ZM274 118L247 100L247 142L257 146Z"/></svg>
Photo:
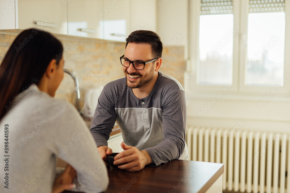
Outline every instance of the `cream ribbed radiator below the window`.
<svg viewBox="0 0 290 193"><path fill-rule="evenodd" d="M224 163L223 190L235 192L290 193L289 139L281 133L186 129L189 160Z"/></svg>

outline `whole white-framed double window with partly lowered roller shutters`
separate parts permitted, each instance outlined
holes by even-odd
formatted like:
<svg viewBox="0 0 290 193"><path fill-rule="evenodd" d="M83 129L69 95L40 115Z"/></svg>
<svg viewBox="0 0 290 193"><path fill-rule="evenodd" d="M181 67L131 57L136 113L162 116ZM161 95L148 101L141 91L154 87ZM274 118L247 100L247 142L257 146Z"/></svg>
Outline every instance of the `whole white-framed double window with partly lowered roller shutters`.
<svg viewBox="0 0 290 193"><path fill-rule="evenodd" d="M289 94L290 13L284 0L191 2L191 88L229 85L234 92L261 93L279 87L277 93Z"/></svg>

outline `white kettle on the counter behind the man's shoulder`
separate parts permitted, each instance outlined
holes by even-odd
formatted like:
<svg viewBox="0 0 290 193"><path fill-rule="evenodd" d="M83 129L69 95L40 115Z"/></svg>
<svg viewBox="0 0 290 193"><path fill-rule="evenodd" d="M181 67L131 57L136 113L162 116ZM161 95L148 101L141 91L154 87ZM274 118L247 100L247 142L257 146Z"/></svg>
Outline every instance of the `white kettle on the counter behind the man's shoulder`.
<svg viewBox="0 0 290 193"><path fill-rule="evenodd" d="M85 92L84 106L81 109L81 114L86 121L92 121L94 113L98 104L99 96L103 87L100 86L96 89L87 89Z"/></svg>

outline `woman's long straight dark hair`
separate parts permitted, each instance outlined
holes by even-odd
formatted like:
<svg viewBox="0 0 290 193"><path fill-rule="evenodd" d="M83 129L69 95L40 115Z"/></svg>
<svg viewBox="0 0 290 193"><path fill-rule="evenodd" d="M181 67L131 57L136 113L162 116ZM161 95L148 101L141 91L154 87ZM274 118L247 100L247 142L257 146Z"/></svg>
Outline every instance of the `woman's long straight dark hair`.
<svg viewBox="0 0 290 193"><path fill-rule="evenodd" d="M21 32L0 65L0 120L19 100L15 98L31 84L38 84L50 61L57 65L63 46L48 32L28 29Z"/></svg>

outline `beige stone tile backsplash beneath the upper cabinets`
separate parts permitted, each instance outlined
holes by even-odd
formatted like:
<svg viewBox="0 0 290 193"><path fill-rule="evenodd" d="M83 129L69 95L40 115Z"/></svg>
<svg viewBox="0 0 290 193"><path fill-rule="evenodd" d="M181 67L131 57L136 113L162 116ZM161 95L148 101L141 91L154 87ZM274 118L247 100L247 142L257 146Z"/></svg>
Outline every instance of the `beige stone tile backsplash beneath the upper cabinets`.
<svg viewBox="0 0 290 193"><path fill-rule="evenodd" d="M54 34L64 46L64 68L72 70L80 85L83 104L86 89L104 86L108 82L124 77L120 56L125 52L125 43L93 38ZM0 63L16 35L0 34ZM164 47L160 71L183 83L185 60L184 46ZM183 85L183 84L182 84ZM64 80L57 89L57 98L75 103L73 79L65 73Z"/></svg>

